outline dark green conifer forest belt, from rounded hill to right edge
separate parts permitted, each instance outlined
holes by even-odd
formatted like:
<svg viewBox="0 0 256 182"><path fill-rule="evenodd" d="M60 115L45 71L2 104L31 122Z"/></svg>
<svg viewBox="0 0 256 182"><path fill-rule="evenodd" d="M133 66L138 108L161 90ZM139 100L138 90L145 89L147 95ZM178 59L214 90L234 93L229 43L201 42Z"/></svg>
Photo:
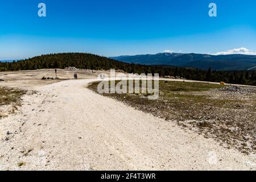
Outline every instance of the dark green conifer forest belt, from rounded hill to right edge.
<svg viewBox="0 0 256 182"><path fill-rule="evenodd" d="M128 73L159 73L160 76L179 76L199 81L225 81L232 84L256 85L255 71L203 71L168 66L148 66L123 63L90 53L55 53L32 57L31 59L0 63L0 71L19 71L76 67L80 69L122 69Z"/></svg>

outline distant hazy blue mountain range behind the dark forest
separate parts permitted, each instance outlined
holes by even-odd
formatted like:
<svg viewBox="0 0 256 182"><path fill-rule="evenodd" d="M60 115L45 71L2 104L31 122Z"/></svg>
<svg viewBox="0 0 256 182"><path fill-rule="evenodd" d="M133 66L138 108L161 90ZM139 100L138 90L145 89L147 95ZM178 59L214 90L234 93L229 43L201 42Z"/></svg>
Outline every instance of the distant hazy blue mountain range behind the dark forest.
<svg viewBox="0 0 256 182"><path fill-rule="evenodd" d="M118 56L112 59L145 65L172 65L214 70L256 69L256 55L206 55L199 53L157 53L155 55ZM254 68L255 67L255 68Z"/></svg>

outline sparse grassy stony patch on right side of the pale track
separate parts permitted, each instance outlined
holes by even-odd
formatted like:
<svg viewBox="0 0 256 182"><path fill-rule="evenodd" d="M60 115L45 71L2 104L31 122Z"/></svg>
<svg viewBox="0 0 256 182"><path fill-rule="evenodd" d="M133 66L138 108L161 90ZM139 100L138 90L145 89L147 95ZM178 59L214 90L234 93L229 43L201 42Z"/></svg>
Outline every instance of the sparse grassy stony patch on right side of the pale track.
<svg viewBox="0 0 256 182"><path fill-rule="evenodd" d="M89 86L97 91L97 82ZM160 81L158 100L146 94L104 94L179 126L214 138L225 147L256 153L256 93L221 92L224 85Z"/></svg>

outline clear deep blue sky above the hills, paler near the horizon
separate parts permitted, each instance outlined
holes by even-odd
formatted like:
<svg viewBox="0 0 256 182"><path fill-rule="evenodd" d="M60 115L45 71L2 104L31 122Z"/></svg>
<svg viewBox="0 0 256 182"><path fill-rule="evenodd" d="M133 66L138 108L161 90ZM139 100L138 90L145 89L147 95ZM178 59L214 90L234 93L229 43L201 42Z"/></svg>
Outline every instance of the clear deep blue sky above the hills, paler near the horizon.
<svg viewBox="0 0 256 182"><path fill-rule="evenodd" d="M45 18L38 16L40 2ZM216 18L208 15L210 2L217 4ZM0 59L54 52L256 52L255 9L255 0L0 0Z"/></svg>

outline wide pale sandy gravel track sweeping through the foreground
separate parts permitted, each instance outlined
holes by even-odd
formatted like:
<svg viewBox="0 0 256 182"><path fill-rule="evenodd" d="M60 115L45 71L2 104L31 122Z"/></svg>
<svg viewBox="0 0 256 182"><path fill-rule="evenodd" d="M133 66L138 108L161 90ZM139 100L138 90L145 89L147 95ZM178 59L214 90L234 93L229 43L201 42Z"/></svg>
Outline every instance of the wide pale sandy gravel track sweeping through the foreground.
<svg viewBox="0 0 256 182"><path fill-rule="evenodd" d="M85 86L95 75L47 85L40 77L1 83L37 92L0 120L1 170L256 169L255 156L93 93Z"/></svg>

